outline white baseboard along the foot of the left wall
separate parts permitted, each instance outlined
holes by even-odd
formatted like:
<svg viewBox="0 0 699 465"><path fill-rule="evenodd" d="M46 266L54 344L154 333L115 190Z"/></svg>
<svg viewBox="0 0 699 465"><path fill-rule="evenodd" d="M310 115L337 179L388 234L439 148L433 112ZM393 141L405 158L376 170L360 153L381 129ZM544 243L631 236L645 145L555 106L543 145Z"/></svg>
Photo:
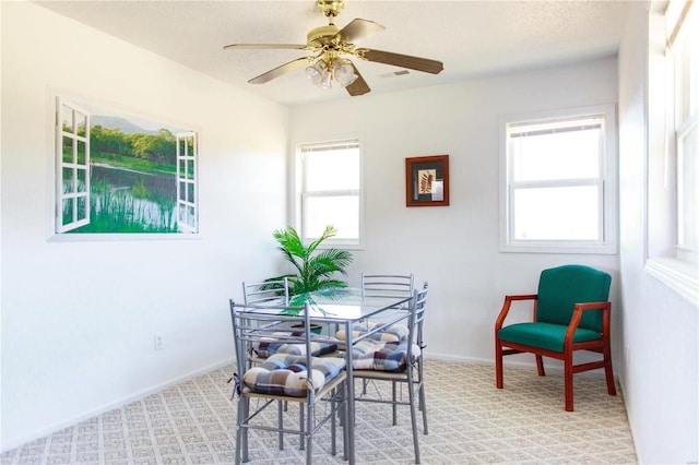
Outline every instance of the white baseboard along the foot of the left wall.
<svg viewBox="0 0 699 465"><path fill-rule="evenodd" d="M45 428L42 428L40 430L36 430L34 431L32 434L28 436L24 436L24 437L19 437L19 438L10 438L7 441L2 441L2 444L0 444L0 453L4 453L7 451L11 451L15 448L19 448L20 445L26 444L28 442L35 441L37 439L42 439L42 438L46 438L47 436L50 436L57 431L60 431L62 429L69 428L71 426L75 426L82 421L88 420L91 418L94 418L96 416L99 416L102 414L105 414L107 412L114 410L116 408L120 408L123 407L125 405L131 404L133 402L140 401L144 397L147 397L149 395L158 393L161 391L164 391L168 388L171 388L174 385L183 383L186 381L189 381L191 379L198 378L204 373L208 373L210 371L226 367L230 363L235 362L235 358L229 358L226 360L221 360L216 363L212 363L209 365L204 368L201 368L199 370L192 371L190 373L187 373L182 377L178 377L178 378L174 378L163 384L158 384L158 385L154 385L151 386L149 389L145 389L143 391L140 391L133 395L129 395L126 397L122 397L120 400L117 400L115 402L110 402L108 404L102 405L97 408L87 410L87 412L83 412L80 415L76 415L74 417L71 417L67 420L63 421L59 421L57 424L47 426Z"/></svg>

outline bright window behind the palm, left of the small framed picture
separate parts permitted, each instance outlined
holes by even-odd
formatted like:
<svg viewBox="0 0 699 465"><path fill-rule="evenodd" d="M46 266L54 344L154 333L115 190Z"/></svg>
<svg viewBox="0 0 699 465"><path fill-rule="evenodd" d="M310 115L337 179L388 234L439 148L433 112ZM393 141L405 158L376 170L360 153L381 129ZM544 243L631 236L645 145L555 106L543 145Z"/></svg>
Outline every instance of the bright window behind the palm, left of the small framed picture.
<svg viewBox="0 0 699 465"><path fill-rule="evenodd" d="M358 140L301 144L300 235L320 237L333 225L337 235L329 243L358 246L362 231L362 163Z"/></svg>

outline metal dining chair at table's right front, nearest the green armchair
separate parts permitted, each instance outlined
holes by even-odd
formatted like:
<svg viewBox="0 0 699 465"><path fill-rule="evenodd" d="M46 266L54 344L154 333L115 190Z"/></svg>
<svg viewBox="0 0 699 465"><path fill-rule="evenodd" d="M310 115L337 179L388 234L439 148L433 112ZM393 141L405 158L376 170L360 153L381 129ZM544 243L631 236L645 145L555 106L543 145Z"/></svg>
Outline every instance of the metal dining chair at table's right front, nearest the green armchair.
<svg viewBox="0 0 699 465"><path fill-rule="evenodd" d="M419 463L419 442L417 436L416 409L423 413L423 432L427 429L427 408L425 404L423 324L427 311L428 285L413 291L407 317L408 335L404 341L381 342L370 338L353 346L354 379L363 381L363 393L355 401L391 404L393 425L398 425L398 405L408 405L413 428L415 463ZM390 382L391 398L367 394L367 383ZM406 386L407 401L399 398L398 386ZM354 388L354 386L353 386ZM353 390L354 391L354 390Z"/></svg>

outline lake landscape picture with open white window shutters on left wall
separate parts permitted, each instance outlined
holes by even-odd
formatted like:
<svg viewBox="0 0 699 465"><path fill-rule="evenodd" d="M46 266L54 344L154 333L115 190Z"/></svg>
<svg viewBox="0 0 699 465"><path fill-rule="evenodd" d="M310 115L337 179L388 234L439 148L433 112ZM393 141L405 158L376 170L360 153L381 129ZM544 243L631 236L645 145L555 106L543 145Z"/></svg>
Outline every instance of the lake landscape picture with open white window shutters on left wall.
<svg viewBox="0 0 699 465"><path fill-rule="evenodd" d="M194 131L56 98L56 234L197 234Z"/></svg>

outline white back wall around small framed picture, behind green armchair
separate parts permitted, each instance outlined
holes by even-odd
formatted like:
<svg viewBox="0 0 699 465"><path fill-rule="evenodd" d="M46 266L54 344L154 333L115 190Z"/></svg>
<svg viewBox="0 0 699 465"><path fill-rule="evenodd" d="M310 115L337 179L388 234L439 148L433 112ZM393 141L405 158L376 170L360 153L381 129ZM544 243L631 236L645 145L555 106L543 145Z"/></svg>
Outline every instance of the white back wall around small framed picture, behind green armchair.
<svg viewBox="0 0 699 465"><path fill-rule="evenodd" d="M617 255L498 251L499 117L616 100L616 59L607 58L292 108L291 136L293 142L363 138L366 248L355 253L352 277L362 271L412 271L418 283L429 281L428 356L493 363L503 296L536 291L540 272L559 264L584 263L612 274L613 338L618 338ZM319 124L322 118L329 123ZM406 207L405 158L441 154L450 157L451 205ZM533 356L506 362L514 357L533 363Z"/></svg>

